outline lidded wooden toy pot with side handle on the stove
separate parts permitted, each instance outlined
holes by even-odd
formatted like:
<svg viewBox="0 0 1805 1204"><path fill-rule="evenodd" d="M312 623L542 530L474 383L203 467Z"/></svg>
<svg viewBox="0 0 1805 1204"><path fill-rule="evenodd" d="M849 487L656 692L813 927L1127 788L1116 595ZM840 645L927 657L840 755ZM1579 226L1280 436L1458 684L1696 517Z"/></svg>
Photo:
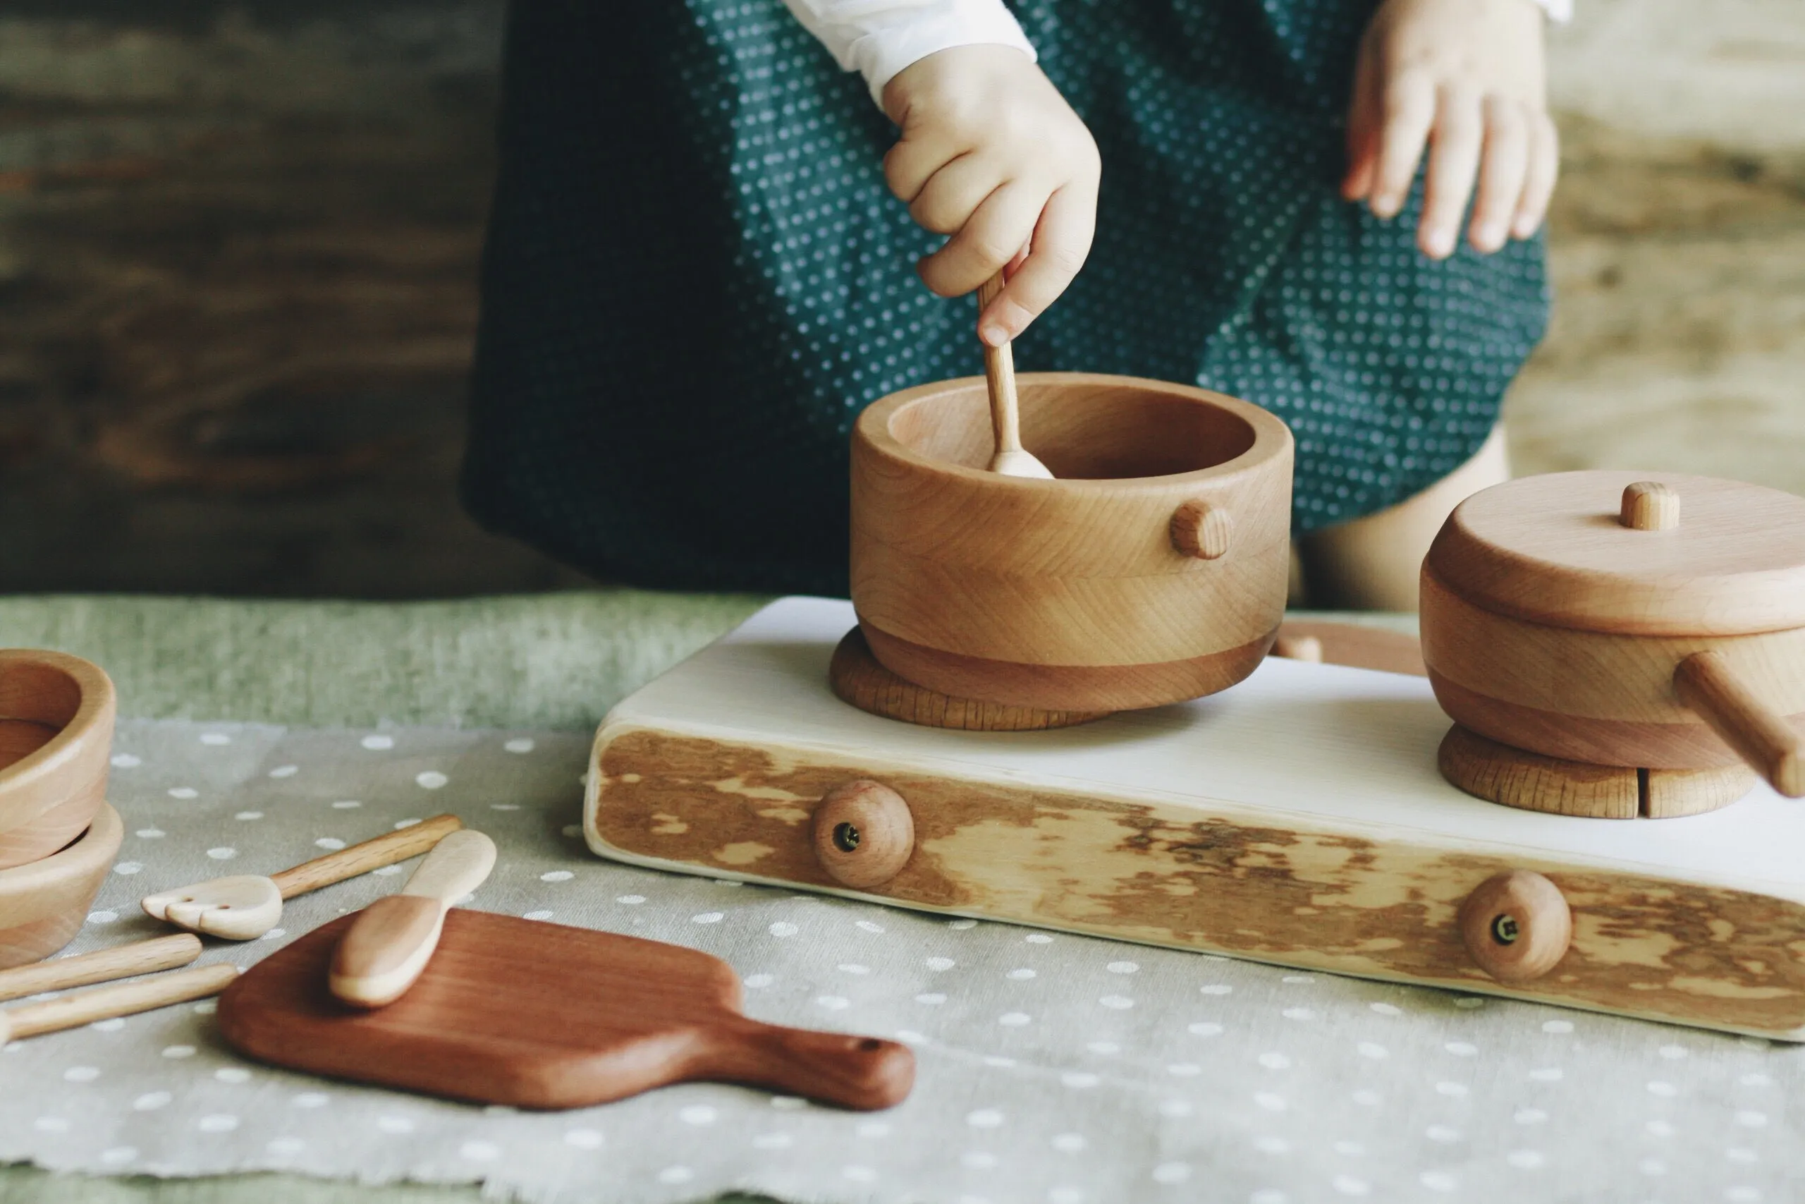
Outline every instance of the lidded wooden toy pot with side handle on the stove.
<svg viewBox="0 0 1805 1204"><path fill-rule="evenodd" d="M1511 749L1644 774L1745 762L1801 796L1805 498L1624 471L1476 493L1422 565L1422 657L1448 715Z"/></svg>

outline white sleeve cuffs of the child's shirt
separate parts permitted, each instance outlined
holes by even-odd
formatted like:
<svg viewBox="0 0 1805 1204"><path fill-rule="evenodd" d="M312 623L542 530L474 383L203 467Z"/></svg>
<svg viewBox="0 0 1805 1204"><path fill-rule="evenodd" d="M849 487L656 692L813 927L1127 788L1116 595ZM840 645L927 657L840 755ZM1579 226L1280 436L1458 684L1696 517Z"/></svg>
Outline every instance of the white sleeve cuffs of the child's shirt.
<svg viewBox="0 0 1805 1204"><path fill-rule="evenodd" d="M1567 22L1572 0L1532 0ZM910 63L955 45L1034 45L1004 0L783 0L845 70L857 70L883 107L884 85Z"/></svg>

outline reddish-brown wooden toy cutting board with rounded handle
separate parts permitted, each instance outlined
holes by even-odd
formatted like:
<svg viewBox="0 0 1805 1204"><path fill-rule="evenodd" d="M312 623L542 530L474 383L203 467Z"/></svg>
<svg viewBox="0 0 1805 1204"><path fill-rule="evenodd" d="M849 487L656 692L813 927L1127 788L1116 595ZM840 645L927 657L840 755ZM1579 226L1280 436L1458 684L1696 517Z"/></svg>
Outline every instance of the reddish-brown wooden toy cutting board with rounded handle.
<svg viewBox="0 0 1805 1204"><path fill-rule="evenodd" d="M697 1079L888 1108L915 1081L906 1045L749 1020L738 977L706 953L487 912L446 915L439 951L399 1002L352 1009L327 991L350 921L273 953L220 996L220 1033L238 1052L522 1108Z"/></svg>

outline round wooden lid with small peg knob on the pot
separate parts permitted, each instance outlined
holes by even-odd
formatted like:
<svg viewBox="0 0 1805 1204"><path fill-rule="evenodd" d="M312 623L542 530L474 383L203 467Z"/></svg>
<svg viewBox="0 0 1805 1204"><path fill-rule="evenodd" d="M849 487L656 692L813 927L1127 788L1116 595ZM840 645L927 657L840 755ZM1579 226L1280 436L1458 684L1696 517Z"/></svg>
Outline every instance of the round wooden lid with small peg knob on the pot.
<svg viewBox="0 0 1805 1204"><path fill-rule="evenodd" d="M1805 498L1680 473L1523 477L1473 495L1424 569L1476 607L1623 635L1805 626Z"/></svg>

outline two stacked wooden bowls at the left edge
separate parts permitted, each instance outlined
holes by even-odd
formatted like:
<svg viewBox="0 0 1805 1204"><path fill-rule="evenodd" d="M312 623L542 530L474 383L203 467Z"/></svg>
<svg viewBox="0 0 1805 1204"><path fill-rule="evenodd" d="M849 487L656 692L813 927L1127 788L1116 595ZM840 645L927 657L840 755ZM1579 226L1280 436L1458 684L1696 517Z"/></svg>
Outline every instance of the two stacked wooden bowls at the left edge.
<svg viewBox="0 0 1805 1204"><path fill-rule="evenodd" d="M99 666L0 650L0 968L69 944L119 852L106 805L116 711Z"/></svg>

